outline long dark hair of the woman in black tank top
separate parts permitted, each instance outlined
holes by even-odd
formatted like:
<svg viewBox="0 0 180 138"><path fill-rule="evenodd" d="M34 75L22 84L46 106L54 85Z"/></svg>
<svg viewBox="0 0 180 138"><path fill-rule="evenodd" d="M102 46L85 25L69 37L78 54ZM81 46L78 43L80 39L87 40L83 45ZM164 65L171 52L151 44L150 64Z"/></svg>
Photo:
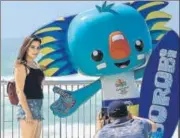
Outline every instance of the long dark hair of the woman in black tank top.
<svg viewBox="0 0 180 138"><path fill-rule="evenodd" d="M18 54L18 57L16 59L16 65L17 64L22 64L22 63L26 63L26 53L27 53L27 50L29 48L29 46L31 45L31 43L33 41L38 41L40 44L41 44L41 39L38 38L37 36L35 35L32 35L32 36L29 36L29 37L26 37L24 39L24 42L19 50L19 54Z"/></svg>

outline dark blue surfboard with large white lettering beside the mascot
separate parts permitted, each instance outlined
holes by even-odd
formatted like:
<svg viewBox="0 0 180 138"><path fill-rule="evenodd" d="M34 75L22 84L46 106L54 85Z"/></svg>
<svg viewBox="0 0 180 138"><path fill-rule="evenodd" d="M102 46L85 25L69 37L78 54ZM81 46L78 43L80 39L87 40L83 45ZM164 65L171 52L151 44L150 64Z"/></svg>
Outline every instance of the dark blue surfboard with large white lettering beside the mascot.
<svg viewBox="0 0 180 138"><path fill-rule="evenodd" d="M179 120L179 37L169 31L152 52L141 87L140 116L157 125L150 138L171 138Z"/></svg>

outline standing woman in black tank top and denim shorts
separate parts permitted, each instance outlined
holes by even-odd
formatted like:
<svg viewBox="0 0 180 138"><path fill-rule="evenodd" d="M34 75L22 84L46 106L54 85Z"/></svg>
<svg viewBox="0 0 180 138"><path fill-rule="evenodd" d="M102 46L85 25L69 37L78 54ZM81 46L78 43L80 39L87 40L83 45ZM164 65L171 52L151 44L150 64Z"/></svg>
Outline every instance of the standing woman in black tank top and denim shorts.
<svg viewBox="0 0 180 138"><path fill-rule="evenodd" d="M15 83L19 98L17 119L22 138L40 138L42 116L43 71L34 59L40 52L41 39L27 37L15 64Z"/></svg>

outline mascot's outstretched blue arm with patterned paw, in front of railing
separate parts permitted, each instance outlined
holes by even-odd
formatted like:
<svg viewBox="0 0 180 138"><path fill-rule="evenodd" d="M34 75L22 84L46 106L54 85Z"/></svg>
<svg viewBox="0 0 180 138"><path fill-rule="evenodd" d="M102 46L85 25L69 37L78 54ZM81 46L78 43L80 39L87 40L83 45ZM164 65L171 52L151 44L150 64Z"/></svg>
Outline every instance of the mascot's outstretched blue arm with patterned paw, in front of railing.
<svg viewBox="0 0 180 138"><path fill-rule="evenodd" d="M54 115L67 117L76 111L80 105L86 102L101 89L101 81L97 80L88 86L78 89L74 92L62 90L54 87L53 91L60 95L59 99L51 105Z"/></svg>

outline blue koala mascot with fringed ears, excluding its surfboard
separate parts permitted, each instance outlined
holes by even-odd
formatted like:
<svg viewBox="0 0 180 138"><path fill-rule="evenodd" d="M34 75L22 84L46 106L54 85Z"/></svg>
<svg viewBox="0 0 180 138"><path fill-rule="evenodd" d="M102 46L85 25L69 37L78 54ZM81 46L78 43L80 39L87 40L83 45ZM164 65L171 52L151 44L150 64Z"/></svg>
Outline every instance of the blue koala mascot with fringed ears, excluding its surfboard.
<svg viewBox="0 0 180 138"><path fill-rule="evenodd" d="M99 77L74 92L54 87L60 95L51 105L54 115L67 117L99 90L103 107L122 99L133 104L138 115L140 93L135 80L142 78L151 52L171 31L165 26L171 16L163 11L168 2L135 1L107 4L69 17L60 17L36 30L42 39L46 76L78 72Z"/></svg>

